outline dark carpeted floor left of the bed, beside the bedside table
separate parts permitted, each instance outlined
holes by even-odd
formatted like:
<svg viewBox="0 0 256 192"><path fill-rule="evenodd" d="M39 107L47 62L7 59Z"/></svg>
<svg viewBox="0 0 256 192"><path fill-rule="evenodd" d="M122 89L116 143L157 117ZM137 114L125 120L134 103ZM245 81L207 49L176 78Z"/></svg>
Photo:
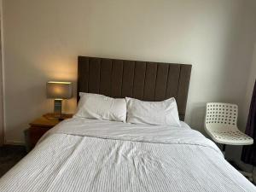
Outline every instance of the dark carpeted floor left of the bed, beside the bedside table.
<svg viewBox="0 0 256 192"><path fill-rule="evenodd" d="M4 145L0 147L0 177L8 172L26 155L24 146Z"/></svg>

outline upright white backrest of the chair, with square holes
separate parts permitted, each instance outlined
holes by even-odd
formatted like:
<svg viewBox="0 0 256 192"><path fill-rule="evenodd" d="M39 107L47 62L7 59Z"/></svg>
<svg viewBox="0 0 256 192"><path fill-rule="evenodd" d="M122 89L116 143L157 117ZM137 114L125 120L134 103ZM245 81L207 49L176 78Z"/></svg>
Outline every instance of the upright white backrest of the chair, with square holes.
<svg viewBox="0 0 256 192"><path fill-rule="evenodd" d="M205 128L222 125L237 127L238 107L235 104L223 102L207 102Z"/></svg>

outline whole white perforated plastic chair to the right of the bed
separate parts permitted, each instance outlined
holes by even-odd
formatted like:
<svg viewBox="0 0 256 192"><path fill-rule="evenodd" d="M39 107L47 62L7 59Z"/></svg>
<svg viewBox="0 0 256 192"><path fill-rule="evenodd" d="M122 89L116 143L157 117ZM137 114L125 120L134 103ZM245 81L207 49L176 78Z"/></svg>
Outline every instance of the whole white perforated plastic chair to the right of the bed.
<svg viewBox="0 0 256 192"><path fill-rule="evenodd" d="M229 145L251 145L253 138L237 128L238 107L222 102L208 102L205 130L216 143Z"/></svg>

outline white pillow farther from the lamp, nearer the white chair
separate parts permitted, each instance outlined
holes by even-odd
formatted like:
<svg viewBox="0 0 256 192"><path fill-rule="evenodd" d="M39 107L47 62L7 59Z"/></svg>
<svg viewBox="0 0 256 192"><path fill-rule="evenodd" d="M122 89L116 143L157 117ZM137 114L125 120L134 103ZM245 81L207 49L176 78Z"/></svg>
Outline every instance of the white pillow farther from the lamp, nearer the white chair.
<svg viewBox="0 0 256 192"><path fill-rule="evenodd" d="M129 97L125 99L127 123L181 126L173 97L163 102L143 102Z"/></svg>

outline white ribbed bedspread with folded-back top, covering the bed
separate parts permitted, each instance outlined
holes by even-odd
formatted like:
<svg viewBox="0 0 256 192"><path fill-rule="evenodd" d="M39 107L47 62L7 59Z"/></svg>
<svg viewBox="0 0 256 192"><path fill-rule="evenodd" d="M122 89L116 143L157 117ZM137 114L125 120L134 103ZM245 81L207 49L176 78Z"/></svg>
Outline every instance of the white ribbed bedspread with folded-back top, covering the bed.
<svg viewBox="0 0 256 192"><path fill-rule="evenodd" d="M0 191L256 191L188 125L67 119L0 179Z"/></svg>

